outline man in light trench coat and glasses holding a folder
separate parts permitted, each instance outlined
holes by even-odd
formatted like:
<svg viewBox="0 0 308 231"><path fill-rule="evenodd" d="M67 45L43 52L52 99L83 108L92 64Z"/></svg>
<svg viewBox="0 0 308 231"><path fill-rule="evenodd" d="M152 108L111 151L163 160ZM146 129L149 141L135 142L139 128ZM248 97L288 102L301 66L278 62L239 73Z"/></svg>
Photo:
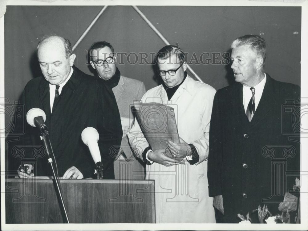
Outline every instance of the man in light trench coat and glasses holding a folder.
<svg viewBox="0 0 308 231"><path fill-rule="evenodd" d="M165 46L155 58L163 84L148 90L142 103L174 109L180 143L152 151L135 119L129 142L146 164L146 179L155 180L157 223L215 223L208 195L209 123L216 90L187 75L184 51ZM159 133L157 133L159 136Z"/></svg>

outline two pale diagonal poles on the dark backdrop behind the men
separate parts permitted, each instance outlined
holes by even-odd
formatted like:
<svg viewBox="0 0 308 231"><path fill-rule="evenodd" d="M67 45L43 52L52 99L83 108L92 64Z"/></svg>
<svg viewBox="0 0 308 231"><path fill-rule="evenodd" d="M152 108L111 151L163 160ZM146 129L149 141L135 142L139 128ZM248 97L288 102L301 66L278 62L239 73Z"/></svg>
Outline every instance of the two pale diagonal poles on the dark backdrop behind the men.
<svg viewBox="0 0 308 231"><path fill-rule="evenodd" d="M83 38L88 34L88 32L91 30L92 26L95 24L95 22L99 19L99 17L103 14L103 12L107 9L108 6L104 6L99 13L95 16L93 21L90 23L90 25L87 27L87 29L83 32L83 34L80 36L80 38L77 40L77 42L73 46L73 51L76 49L76 47L79 45L79 43L83 40ZM157 28L150 22L150 20L139 10L137 6L132 6L134 10L140 15L140 17L148 24L149 27L160 37L160 39L166 44L170 45L170 42L157 30ZM193 76L200 82L203 83L202 79L197 75L197 73L187 64L187 69L193 74Z"/></svg>

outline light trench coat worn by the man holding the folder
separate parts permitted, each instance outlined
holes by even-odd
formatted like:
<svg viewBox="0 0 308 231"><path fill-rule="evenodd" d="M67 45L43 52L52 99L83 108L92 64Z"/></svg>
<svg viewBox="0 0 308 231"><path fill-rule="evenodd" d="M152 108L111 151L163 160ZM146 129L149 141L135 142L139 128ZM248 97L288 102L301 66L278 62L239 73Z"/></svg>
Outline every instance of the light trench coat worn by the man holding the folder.
<svg viewBox="0 0 308 231"><path fill-rule="evenodd" d="M216 90L187 76L168 101L162 85L148 90L141 102L157 102L174 108L179 136L193 144L199 162L165 167L158 163L146 166L146 179L155 180L157 223L215 223L213 198L208 195L207 159L209 123ZM129 143L142 152L148 142L138 122L128 132Z"/></svg>

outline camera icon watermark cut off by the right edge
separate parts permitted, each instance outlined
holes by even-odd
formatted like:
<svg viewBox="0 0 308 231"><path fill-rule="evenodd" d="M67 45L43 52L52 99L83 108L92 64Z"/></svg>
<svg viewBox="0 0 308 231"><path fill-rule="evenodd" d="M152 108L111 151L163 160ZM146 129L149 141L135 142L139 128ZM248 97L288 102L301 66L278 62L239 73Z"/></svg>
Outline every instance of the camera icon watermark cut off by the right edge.
<svg viewBox="0 0 308 231"><path fill-rule="evenodd" d="M308 120L308 98L286 100L282 105L282 134L308 134L308 127L304 127L301 120Z"/></svg>

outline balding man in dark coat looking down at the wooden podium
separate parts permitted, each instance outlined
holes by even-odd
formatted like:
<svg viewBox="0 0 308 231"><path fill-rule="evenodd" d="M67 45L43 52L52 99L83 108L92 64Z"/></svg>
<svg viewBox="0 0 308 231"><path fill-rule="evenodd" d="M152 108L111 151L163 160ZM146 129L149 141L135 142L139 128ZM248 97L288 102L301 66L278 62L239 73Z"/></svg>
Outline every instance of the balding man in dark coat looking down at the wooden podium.
<svg viewBox="0 0 308 231"><path fill-rule="evenodd" d="M37 47L37 55L43 77L27 83L22 102L26 111L36 107L45 112L59 176L73 179L91 176L95 163L81 140L81 132L86 127L94 127L100 136L104 178L114 179L113 160L117 150L113 147L120 145L122 128L111 89L73 66L76 55L65 38L44 37ZM52 176L47 158L33 156L32 150L28 150L41 144L39 135L37 129L26 127L22 144L27 150L22 162L28 169L19 169L19 177Z"/></svg>

